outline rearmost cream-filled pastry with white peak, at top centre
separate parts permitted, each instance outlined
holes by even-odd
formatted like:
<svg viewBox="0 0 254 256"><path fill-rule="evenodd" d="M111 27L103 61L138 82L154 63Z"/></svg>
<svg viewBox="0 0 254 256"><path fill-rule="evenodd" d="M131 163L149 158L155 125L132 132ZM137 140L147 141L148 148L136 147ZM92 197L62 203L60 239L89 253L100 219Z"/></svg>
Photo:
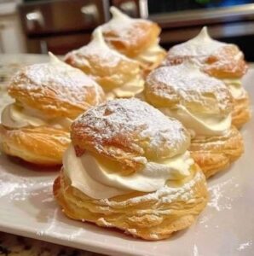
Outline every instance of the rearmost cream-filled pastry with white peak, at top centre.
<svg viewBox="0 0 254 256"><path fill-rule="evenodd" d="M110 12L113 18L101 26L107 44L139 61L145 74L158 67L166 54L159 46L159 26L150 20L132 19L115 7Z"/></svg>

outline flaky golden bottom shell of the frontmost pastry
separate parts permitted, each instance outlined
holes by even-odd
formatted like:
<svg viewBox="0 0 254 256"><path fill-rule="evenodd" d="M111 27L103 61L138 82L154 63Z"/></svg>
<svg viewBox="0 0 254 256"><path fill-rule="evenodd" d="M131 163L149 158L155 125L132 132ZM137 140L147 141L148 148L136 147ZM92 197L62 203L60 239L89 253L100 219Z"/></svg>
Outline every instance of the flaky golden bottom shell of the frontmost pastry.
<svg viewBox="0 0 254 256"><path fill-rule="evenodd" d="M145 240L159 240L193 224L204 209L208 193L198 166L179 188L153 193L132 192L110 199L95 200L72 187L61 172L55 179L54 195L69 218L88 221Z"/></svg>

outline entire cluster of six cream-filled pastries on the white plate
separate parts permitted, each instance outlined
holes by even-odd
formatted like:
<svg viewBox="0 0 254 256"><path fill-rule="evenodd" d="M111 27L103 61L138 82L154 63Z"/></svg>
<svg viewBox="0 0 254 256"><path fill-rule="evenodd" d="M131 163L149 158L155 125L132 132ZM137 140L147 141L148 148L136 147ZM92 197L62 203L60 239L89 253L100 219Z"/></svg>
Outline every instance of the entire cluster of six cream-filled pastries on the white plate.
<svg viewBox="0 0 254 256"><path fill-rule="evenodd" d="M53 192L69 218L165 239L205 208L205 177L244 151L234 125L250 118L247 67L206 28L165 58L157 24L111 12L65 62L51 55L14 76L0 145L33 164L63 164Z"/></svg>

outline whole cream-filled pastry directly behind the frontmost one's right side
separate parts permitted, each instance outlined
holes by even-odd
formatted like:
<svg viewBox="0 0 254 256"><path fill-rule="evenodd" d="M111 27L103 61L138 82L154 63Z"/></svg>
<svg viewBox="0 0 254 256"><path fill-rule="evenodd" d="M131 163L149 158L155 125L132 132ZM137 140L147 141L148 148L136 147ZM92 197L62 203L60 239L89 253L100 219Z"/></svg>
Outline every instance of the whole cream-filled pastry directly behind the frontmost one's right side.
<svg viewBox="0 0 254 256"><path fill-rule="evenodd" d="M189 150L205 177L224 170L243 153L240 132L231 125L233 98L227 86L193 63L154 70L147 77L144 97L188 128Z"/></svg>

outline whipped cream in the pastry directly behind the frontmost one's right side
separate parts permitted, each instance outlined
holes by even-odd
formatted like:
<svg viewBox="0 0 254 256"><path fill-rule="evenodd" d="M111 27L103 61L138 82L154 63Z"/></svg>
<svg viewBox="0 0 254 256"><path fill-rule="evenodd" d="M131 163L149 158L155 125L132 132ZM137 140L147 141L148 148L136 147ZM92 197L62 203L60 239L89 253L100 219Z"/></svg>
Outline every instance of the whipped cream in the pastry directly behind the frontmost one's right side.
<svg viewBox="0 0 254 256"><path fill-rule="evenodd" d="M176 118L182 122L192 137L199 136L220 136L228 131L231 126L231 114L225 117L210 117L197 113L191 113L184 106L177 108L159 108L165 115Z"/></svg>

